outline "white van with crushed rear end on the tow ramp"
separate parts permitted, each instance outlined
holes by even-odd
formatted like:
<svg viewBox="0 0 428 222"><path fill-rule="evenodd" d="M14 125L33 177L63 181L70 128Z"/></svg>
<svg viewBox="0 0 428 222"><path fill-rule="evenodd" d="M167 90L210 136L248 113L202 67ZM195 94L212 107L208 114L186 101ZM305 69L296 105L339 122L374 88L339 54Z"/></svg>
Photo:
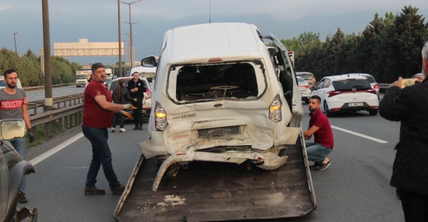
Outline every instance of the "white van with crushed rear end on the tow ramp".
<svg viewBox="0 0 428 222"><path fill-rule="evenodd" d="M270 47L267 47L269 44ZM269 49L268 49L269 48ZM303 109L288 51L255 25L210 23L165 33L149 140L139 147L161 163L153 183L191 161L244 162L275 170L301 133Z"/></svg>

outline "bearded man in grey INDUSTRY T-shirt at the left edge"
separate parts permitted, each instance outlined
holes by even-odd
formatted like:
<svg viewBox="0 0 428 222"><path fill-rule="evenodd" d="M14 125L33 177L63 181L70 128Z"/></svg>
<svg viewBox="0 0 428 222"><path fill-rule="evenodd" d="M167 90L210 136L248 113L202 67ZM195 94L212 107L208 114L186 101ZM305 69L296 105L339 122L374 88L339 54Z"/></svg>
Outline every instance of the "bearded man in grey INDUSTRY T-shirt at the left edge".
<svg viewBox="0 0 428 222"><path fill-rule="evenodd" d="M25 122L28 132L31 130L30 116L27 111L27 95L24 90L16 87L18 84L18 72L8 69L4 72L4 82L6 87L0 90L0 119L21 119ZM30 142L34 139L31 133ZM20 156L25 159L27 154L27 138L23 137L10 141ZM21 204L27 202L25 197L25 177L20 183L18 202Z"/></svg>

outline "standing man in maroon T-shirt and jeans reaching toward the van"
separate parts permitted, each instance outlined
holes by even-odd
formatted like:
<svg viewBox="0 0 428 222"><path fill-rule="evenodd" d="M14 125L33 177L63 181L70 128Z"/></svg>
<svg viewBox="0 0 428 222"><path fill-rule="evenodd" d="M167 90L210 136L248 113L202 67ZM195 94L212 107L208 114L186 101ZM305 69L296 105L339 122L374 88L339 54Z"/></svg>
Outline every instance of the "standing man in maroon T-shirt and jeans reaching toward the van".
<svg viewBox="0 0 428 222"><path fill-rule="evenodd" d="M114 104L111 92L103 83L106 80L106 69L102 63L92 65L92 80L84 90L84 108L82 131L84 137L92 144L92 161L87 174L85 195L104 195L104 190L95 186L96 175L103 166L104 175L108 180L113 195L122 194L125 187L121 185L113 170L110 147L108 147L108 128L111 127L113 112L124 115L129 113L122 109L130 109L131 104Z"/></svg>

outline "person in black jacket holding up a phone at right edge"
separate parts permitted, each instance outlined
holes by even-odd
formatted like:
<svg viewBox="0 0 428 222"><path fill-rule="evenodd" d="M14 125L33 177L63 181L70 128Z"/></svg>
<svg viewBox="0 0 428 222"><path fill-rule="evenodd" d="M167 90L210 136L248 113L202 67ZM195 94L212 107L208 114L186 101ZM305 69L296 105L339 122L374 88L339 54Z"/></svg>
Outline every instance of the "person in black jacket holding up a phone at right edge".
<svg viewBox="0 0 428 222"><path fill-rule="evenodd" d="M422 49L422 72L428 73L428 42ZM398 78L379 104L380 116L401 121L391 186L397 188L405 221L428 221L428 78L423 79L402 88Z"/></svg>

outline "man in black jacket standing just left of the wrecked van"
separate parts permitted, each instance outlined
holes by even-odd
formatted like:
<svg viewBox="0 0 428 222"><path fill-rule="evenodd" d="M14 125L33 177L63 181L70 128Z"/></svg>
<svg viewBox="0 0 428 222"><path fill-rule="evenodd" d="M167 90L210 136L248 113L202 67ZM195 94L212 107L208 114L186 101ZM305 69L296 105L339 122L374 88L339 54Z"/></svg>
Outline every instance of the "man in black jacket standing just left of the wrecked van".
<svg viewBox="0 0 428 222"><path fill-rule="evenodd" d="M143 101L144 101L144 92L146 92L146 85L143 80L140 80L139 73L132 73L134 77L130 82L128 82L127 89L130 90L130 96L134 101L131 101L132 106L137 107L132 112L132 116L134 116L135 127L133 130L143 130L143 120L142 110L143 110ZM137 99L137 101L135 101Z"/></svg>

